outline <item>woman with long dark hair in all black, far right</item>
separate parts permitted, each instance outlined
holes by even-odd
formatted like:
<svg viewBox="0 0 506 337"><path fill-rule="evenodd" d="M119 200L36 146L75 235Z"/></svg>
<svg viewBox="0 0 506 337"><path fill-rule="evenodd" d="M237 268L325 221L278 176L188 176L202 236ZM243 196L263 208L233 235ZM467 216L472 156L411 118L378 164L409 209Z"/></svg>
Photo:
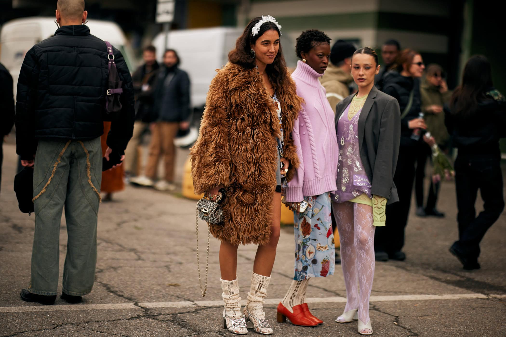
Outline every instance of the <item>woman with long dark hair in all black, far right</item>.
<svg viewBox="0 0 506 337"><path fill-rule="evenodd" d="M479 269L480 242L504 209L499 139L506 137L506 99L493 87L489 61L469 59L445 124L458 149L455 160L458 240L451 246L464 269ZM478 189L483 211L476 216Z"/></svg>

